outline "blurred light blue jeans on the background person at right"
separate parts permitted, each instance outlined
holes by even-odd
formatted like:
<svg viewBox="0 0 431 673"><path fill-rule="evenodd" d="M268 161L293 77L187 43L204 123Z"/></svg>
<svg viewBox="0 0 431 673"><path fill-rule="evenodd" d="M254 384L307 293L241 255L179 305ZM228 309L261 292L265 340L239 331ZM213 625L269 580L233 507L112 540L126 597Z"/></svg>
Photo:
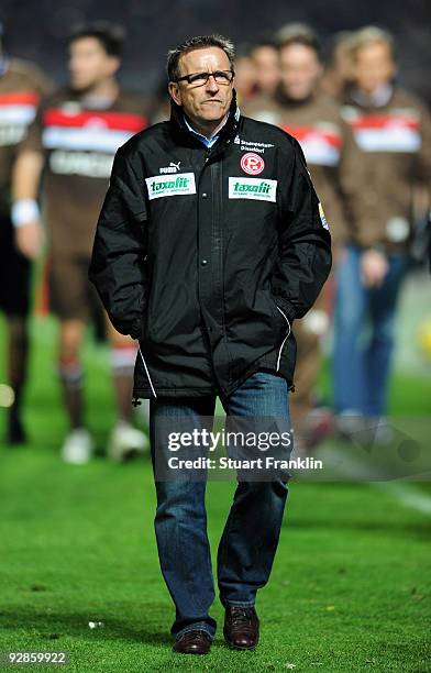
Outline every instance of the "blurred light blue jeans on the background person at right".
<svg viewBox="0 0 431 673"><path fill-rule="evenodd" d="M379 417L386 412L397 299L407 258L391 255L388 261L383 284L373 289L362 283L358 247L347 246L336 269L333 382L338 413Z"/></svg>

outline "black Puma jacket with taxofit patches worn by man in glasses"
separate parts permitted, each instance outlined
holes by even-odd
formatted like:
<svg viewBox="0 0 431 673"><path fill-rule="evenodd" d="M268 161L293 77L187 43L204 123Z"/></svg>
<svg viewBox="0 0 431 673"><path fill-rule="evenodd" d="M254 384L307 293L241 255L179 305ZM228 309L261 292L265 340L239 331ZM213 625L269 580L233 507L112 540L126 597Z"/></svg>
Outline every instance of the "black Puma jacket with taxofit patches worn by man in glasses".
<svg viewBox="0 0 431 673"><path fill-rule="evenodd" d="M115 155L89 272L140 342L134 397L229 395L256 371L291 386L291 323L328 277L330 241L294 137L233 100L208 150L173 103Z"/></svg>

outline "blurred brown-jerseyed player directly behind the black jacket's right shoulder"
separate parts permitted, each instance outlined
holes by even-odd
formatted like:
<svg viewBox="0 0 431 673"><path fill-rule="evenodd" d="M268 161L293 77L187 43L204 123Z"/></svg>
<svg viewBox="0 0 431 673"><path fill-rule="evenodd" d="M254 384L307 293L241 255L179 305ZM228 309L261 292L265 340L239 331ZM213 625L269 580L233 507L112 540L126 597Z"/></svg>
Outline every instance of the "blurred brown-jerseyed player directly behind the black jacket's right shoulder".
<svg viewBox="0 0 431 673"><path fill-rule="evenodd" d="M357 147L339 106L320 90L323 65L314 32L305 24L287 24L276 40L281 75L276 95L252 101L244 112L277 124L299 141L331 227L336 264L345 239L346 220L354 217L355 200L360 198ZM291 411L297 432L309 444L314 444L332 429L332 412L328 408L313 412L321 364L320 341L330 326L331 299L331 285L327 284L306 318L295 323L298 364Z"/></svg>

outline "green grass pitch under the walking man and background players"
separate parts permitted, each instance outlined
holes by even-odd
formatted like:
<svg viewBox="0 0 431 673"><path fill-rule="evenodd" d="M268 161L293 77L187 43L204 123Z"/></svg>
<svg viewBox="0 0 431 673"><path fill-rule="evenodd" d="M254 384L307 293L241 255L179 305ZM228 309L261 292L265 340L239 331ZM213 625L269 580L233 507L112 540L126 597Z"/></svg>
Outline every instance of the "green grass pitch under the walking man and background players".
<svg viewBox="0 0 431 673"><path fill-rule="evenodd" d="M31 441L1 456L0 651L65 650L66 671L431 670L430 516L361 484L291 484L272 578L258 594L256 652L224 646L217 599L211 654L172 653L150 461L60 463L66 420L55 328L32 327ZM102 445L113 419L106 350L88 344L85 355L89 424ZM430 387L395 378L391 410L426 413ZM208 487L213 556L233 486ZM409 487L431 493L426 484ZM91 630L89 621L104 626Z"/></svg>

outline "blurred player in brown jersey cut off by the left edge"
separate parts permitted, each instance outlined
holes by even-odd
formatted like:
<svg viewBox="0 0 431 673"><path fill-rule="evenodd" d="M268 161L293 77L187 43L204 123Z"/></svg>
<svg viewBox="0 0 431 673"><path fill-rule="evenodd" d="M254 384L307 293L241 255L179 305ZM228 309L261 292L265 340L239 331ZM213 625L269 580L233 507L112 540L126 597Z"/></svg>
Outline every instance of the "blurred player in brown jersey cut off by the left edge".
<svg viewBox="0 0 431 673"><path fill-rule="evenodd" d="M9 409L8 444L25 441L22 397L26 380L31 262L14 245L11 221L11 177L16 147L33 121L41 96L52 85L32 63L11 58L0 22L0 310L7 317L8 378L13 390Z"/></svg>

